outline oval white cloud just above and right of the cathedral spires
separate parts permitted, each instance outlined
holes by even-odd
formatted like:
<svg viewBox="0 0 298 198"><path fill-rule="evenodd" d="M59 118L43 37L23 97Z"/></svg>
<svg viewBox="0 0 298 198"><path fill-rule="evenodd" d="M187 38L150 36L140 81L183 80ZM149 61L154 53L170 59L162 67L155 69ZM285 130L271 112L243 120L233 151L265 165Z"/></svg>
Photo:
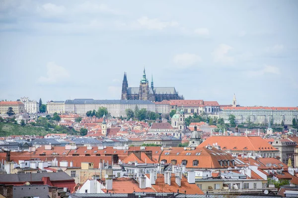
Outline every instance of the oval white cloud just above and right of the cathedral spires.
<svg viewBox="0 0 298 198"><path fill-rule="evenodd" d="M187 67L201 62L202 58L194 53L180 53L174 56L173 61L179 67Z"/></svg>

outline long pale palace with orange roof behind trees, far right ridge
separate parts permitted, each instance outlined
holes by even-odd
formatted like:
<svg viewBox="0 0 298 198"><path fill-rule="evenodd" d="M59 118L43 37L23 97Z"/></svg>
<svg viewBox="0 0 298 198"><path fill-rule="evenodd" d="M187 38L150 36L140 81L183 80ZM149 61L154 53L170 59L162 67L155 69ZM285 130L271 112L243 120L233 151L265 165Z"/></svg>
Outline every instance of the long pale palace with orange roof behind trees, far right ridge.
<svg viewBox="0 0 298 198"><path fill-rule="evenodd" d="M298 116L298 107L268 107L268 106L232 106L222 107L219 115L229 123L229 115L235 115L236 123L245 123L248 117L254 124L267 124L269 119L274 124L292 124L293 118Z"/></svg>

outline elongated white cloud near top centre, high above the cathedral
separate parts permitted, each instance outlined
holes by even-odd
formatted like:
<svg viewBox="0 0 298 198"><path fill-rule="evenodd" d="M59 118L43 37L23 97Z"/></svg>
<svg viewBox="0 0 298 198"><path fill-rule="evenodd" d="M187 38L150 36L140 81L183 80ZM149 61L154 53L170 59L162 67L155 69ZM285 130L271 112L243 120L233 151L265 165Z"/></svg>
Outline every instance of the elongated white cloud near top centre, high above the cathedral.
<svg viewBox="0 0 298 198"><path fill-rule="evenodd" d="M165 22L160 21L157 18L149 19L147 16L143 16L138 19L139 25L149 30L162 30L167 27L175 27L179 24L175 21Z"/></svg>

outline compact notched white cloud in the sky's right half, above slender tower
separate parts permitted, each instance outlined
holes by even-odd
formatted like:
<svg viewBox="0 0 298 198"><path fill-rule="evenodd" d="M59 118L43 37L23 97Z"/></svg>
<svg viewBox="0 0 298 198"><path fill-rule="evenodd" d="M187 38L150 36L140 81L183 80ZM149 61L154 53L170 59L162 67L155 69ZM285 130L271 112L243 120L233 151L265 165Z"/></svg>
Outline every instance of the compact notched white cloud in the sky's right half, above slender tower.
<svg viewBox="0 0 298 198"><path fill-rule="evenodd" d="M219 45L213 51L214 61L222 64L232 64L235 61L235 58L233 56L228 56L227 54L231 49L233 48L226 44Z"/></svg>

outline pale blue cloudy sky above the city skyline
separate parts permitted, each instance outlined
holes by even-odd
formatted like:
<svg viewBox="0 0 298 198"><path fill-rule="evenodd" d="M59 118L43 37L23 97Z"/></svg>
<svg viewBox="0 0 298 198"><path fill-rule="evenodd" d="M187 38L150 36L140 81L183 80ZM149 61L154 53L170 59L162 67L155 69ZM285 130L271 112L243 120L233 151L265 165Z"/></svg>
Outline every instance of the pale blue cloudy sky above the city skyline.
<svg viewBox="0 0 298 198"><path fill-rule="evenodd" d="M0 99L185 99L298 106L297 0L0 0Z"/></svg>

